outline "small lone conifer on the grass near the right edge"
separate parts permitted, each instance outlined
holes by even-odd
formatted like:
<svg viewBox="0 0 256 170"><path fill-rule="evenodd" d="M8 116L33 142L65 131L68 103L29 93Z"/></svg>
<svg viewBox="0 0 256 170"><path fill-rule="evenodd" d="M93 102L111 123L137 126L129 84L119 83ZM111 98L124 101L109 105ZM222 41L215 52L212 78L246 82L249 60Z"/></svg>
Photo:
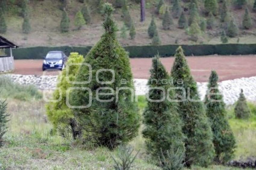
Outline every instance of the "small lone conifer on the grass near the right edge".
<svg viewBox="0 0 256 170"><path fill-rule="evenodd" d="M246 98L242 89L236 103L235 115L237 119L248 119L251 115L251 111L247 105Z"/></svg>

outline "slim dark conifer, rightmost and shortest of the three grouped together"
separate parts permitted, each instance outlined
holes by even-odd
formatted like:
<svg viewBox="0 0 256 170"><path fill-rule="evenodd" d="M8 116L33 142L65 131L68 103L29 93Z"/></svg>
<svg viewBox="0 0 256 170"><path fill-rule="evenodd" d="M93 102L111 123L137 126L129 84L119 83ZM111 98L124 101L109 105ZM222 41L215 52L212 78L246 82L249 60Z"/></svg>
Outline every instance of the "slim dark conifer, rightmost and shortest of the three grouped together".
<svg viewBox="0 0 256 170"><path fill-rule="evenodd" d="M211 71L208 91L205 96L205 106L213 132L213 144L216 153L214 161L224 164L233 158L236 140L226 117L225 103L217 82L216 71Z"/></svg>

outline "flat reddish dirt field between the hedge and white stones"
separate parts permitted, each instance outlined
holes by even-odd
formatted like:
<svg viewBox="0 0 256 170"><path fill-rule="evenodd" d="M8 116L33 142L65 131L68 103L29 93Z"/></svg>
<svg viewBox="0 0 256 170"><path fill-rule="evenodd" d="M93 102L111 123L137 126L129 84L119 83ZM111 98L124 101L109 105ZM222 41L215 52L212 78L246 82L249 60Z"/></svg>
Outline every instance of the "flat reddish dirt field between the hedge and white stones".
<svg viewBox="0 0 256 170"><path fill-rule="evenodd" d="M171 70L174 57L161 59L168 71ZM230 80L241 77L256 76L256 56L193 56L187 57L195 80L208 81L210 71L216 70L220 80ZM131 59L134 78L148 78L151 58ZM42 60L15 60L14 74L42 75ZM58 72L47 72L47 75L57 75Z"/></svg>

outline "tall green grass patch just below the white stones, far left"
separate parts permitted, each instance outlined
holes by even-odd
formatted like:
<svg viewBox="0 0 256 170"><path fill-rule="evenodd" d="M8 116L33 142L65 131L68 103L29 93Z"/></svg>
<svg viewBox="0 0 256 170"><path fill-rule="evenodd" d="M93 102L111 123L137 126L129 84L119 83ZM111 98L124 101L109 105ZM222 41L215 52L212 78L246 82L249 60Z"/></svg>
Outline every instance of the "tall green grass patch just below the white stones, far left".
<svg viewBox="0 0 256 170"><path fill-rule="evenodd" d="M14 83L9 77L0 77L0 97L21 101L42 99L42 94L33 85L25 86Z"/></svg>

